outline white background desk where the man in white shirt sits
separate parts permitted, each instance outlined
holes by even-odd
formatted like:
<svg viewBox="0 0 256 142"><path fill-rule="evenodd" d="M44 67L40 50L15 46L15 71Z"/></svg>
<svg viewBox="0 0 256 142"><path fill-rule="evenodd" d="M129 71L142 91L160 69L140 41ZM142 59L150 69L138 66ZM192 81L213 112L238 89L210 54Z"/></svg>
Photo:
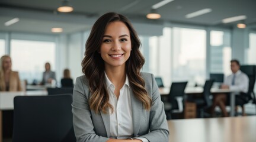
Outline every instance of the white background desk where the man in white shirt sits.
<svg viewBox="0 0 256 142"><path fill-rule="evenodd" d="M161 95L165 96L168 95L170 91L170 88L159 88L159 92ZM229 89L220 89L220 88L212 88L210 92L215 95L216 93L229 93L230 95L230 116L233 117L235 115L235 94L236 92L231 92ZM203 93L202 87L186 87L185 88L185 94L187 95L193 95Z"/></svg>

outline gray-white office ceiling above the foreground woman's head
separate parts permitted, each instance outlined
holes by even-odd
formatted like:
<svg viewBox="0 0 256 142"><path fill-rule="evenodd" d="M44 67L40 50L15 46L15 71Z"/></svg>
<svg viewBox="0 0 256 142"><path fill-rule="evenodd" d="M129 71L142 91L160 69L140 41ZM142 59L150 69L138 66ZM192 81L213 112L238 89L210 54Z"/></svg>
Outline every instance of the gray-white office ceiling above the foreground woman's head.
<svg viewBox="0 0 256 142"><path fill-rule="evenodd" d="M224 18L246 15L245 23L256 27L255 0L174 0L158 8L159 20L148 20L146 14L153 4L161 0L69 0L74 11L68 14L56 12L61 0L0 0L0 31L28 33L51 33L52 27L62 27L64 33L87 30L105 12L119 12L132 21L162 24L181 24L232 27L222 24ZM186 19L185 15L200 9L211 8L212 12ZM4 23L18 17L20 21L5 27Z"/></svg>

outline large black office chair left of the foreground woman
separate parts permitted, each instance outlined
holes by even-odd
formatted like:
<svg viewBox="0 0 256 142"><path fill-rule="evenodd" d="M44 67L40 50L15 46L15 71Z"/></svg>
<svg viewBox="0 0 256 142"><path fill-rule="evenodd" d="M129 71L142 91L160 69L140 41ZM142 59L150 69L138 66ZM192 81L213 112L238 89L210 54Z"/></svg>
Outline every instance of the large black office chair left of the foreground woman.
<svg viewBox="0 0 256 142"><path fill-rule="evenodd" d="M13 141L76 141L72 95L15 96Z"/></svg>

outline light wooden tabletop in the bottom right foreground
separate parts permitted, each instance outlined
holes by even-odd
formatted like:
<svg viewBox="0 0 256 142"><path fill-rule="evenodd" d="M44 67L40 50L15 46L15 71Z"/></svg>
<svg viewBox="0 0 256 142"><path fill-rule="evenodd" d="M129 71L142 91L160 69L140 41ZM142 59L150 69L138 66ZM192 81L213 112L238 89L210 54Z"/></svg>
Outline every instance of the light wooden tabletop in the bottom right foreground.
<svg viewBox="0 0 256 142"><path fill-rule="evenodd" d="M256 141L256 116L168 120L169 142Z"/></svg>

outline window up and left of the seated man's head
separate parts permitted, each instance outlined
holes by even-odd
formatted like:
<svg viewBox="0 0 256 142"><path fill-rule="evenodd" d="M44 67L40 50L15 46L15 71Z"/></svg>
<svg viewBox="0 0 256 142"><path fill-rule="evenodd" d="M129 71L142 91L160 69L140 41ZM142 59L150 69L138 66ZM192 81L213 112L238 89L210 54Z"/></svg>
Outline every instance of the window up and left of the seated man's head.
<svg viewBox="0 0 256 142"><path fill-rule="evenodd" d="M224 31L210 31L210 73L231 73L231 35Z"/></svg>

